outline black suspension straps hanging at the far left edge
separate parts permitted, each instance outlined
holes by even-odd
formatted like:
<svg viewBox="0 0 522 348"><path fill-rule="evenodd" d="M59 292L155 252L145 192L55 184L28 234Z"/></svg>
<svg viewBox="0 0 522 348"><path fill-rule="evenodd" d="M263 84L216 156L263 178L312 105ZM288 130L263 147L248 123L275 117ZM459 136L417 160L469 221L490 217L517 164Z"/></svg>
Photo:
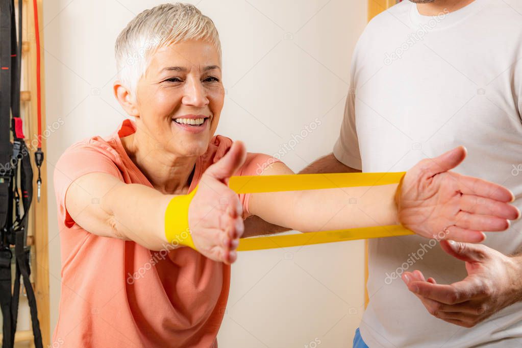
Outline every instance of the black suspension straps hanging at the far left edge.
<svg viewBox="0 0 522 348"><path fill-rule="evenodd" d="M20 118L21 0L18 1L18 6L17 44L14 0L0 0L0 306L4 322L2 347L14 346L21 277L31 311L34 344L37 348L42 348L36 298L29 278L30 248L26 246L27 222L33 195L33 172L30 152L23 140ZM9 139L10 131L13 134L12 143ZM10 245L15 245L16 271L13 292Z"/></svg>

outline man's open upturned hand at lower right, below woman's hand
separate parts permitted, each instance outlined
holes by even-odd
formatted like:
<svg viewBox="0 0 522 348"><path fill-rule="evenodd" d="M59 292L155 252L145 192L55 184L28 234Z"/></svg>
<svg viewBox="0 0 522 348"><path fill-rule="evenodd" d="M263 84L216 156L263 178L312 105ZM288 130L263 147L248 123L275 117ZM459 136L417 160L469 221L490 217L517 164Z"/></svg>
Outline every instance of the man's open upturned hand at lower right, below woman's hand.
<svg viewBox="0 0 522 348"><path fill-rule="evenodd" d="M508 257L481 244L442 241L446 253L466 261L468 277L442 285L426 281L420 271L405 272L402 280L429 313L466 328L522 299L520 257Z"/></svg>

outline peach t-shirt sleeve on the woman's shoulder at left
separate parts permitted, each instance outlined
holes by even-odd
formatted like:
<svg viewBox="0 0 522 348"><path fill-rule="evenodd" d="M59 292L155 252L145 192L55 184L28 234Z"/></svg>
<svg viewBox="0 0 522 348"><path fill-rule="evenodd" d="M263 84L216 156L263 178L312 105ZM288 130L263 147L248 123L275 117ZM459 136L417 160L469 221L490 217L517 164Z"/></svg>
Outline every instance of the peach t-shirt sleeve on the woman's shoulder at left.
<svg viewBox="0 0 522 348"><path fill-rule="evenodd" d="M108 173L123 180L120 170L110 156L92 145L70 147L58 159L53 175L54 193L58 221L62 221L66 227L70 228L75 224L65 206L67 189L80 176L94 172Z"/></svg>

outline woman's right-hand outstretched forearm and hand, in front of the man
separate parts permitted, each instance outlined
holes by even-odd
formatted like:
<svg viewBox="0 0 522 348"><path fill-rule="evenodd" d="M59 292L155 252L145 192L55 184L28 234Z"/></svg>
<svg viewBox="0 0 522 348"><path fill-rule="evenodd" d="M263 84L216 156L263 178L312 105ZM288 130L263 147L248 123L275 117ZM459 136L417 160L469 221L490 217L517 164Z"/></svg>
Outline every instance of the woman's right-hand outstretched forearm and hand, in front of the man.
<svg viewBox="0 0 522 348"><path fill-rule="evenodd" d="M462 147L419 162L404 177L398 205L397 184L252 194L252 214L302 232L392 225L400 222L425 237L481 242L481 231L503 231L519 211L501 185L449 170L466 157ZM274 163L263 175L293 174Z"/></svg>

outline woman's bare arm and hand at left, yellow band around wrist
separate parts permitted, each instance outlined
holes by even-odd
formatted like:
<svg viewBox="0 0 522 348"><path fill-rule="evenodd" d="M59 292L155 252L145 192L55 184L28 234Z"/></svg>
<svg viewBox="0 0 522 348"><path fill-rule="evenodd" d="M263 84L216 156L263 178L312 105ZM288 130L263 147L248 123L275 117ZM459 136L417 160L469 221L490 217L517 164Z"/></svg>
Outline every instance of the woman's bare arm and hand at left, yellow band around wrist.
<svg viewBox="0 0 522 348"><path fill-rule="evenodd" d="M243 144L234 143L201 176L188 206L188 232L196 249L216 261L233 262L243 234L243 207L228 187L228 178L245 157ZM177 246L165 235L165 213L174 197L145 185L126 184L108 173L93 172L69 185L65 206L70 217L90 233L161 250Z"/></svg>

